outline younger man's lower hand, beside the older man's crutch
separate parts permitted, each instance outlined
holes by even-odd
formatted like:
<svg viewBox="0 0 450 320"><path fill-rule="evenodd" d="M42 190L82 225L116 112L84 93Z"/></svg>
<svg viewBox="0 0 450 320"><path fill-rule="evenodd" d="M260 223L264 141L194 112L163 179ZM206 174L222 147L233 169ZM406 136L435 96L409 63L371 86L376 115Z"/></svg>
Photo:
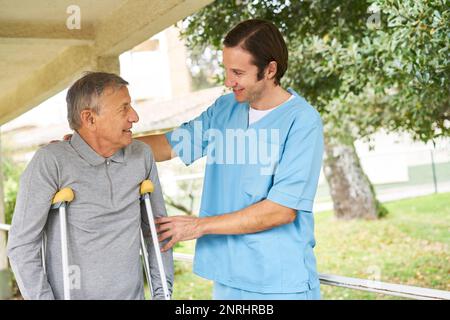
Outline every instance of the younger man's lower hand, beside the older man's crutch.
<svg viewBox="0 0 450 320"><path fill-rule="evenodd" d="M158 240L162 242L171 238L161 251L169 250L179 241L200 238L202 236L199 225L200 219L192 216L156 218L156 231L159 234Z"/></svg>

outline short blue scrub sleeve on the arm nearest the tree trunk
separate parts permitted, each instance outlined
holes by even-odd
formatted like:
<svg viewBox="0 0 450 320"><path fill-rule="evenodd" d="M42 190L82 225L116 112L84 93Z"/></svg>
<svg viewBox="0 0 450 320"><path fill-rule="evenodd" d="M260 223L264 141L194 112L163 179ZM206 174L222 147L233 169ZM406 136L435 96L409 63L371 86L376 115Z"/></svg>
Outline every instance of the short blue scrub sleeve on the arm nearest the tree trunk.
<svg viewBox="0 0 450 320"><path fill-rule="evenodd" d="M320 118L308 125L298 120L294 122L267 199L295 210L312 212L323 147Z"/></svg>

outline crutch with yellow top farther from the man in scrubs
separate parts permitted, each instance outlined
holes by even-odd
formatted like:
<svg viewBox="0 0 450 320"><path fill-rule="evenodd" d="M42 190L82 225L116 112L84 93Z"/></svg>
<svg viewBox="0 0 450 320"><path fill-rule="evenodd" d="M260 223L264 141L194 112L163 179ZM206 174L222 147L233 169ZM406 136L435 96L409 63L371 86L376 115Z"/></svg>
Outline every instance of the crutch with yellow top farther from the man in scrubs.
<svg viewBox="0 0 450 320"><path fill-rule="evenodd" d="M69 281L69 253L67 249L67 215L66 208L69 202L74 198L72 189L64 188L58 191L52 200L51 209L59 209L59 224L61 230L61 257L63 268L63 286L64 286L64 300L70 300L70 281ZM45 250L46 250L46 236L45 233L42 238L42 264L44 272L45 266Z"/></svg>

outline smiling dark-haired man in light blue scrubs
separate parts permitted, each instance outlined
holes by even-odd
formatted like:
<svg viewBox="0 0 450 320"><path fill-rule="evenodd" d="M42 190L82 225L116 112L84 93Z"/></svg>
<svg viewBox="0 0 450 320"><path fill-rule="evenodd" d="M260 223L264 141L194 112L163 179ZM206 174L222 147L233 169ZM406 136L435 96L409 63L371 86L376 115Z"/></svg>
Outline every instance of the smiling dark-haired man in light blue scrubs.
<svg viewBox="0 0 450 320"><path fill-rule="evenodd" d="M225 85L197 118L140 139L156 161L206 156L199 217L157 220L159 240L197 239L194 273L214 299L320 299L313 201L322 164L319 113L280 80L288 51L280 31L247 20L225 37Z"/></svg>

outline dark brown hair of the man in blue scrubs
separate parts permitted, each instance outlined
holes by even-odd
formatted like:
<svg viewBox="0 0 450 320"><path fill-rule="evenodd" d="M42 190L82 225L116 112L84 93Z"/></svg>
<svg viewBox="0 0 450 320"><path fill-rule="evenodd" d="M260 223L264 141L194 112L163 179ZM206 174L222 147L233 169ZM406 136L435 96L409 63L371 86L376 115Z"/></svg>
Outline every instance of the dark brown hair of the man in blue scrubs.
<svg viewBox="0 0 450 320"><path fill-rule="evenodd" d="M228 32L223 44L228 48L240 46L253 56L253 64L258 67L258 80L264 77L267 65L275 61L275 84L280 84L288 67L288 51L283 36L272 22L260 19L243 21Z"/></svg>

